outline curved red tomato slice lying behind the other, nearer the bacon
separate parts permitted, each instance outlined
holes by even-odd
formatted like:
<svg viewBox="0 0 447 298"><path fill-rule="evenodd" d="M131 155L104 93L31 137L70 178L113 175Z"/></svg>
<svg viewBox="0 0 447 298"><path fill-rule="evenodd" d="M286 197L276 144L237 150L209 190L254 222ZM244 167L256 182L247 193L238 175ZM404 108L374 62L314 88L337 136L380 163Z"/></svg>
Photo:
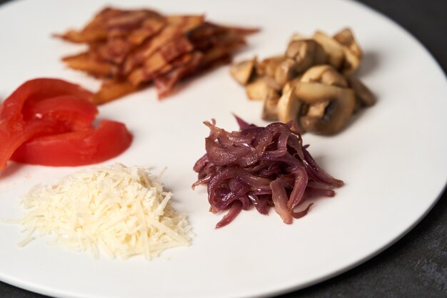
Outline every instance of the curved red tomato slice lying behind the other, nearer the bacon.
<svg viewBox="0 0 447 298"><path fill-rule="evenodd" d="M90 96L90 91L61 79L33 79L19 86L0 105L0 170L34 136L91 125L98 111L87 101Z"/></svg>

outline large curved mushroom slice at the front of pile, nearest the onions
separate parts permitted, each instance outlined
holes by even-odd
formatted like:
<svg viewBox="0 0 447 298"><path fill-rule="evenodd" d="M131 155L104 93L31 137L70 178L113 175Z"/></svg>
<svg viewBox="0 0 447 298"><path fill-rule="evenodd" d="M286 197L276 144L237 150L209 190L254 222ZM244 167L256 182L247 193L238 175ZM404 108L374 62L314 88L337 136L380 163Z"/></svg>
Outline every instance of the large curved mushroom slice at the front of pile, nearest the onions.
<svg viewBox="0 0 447 298"><path fill-rule="evenodd" d="M306 131L324 135L336 134L351 118L356 104L356 96L352 89L319 83L297 85L294 91L298 99L310 104L308 113L299 119ZM321 116L323 107L324 114Z"/></svg>

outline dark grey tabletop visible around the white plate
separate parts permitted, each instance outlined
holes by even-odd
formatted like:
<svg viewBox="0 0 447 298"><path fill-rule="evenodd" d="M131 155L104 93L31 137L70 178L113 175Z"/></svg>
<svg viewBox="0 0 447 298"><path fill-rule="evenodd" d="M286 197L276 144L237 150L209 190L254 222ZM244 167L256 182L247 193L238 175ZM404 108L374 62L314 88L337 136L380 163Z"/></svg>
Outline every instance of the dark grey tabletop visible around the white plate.
<svg viewBox="0 0 447 298"><path fill-rule="evenodd" d="M11 0L0 0L0 4L7 1ZM381 11L416 36L447 73L447 0L361 2ZM446 207L447 192L444 192L411 232L378 256L338 277L278 298L447 297ZM45 296L0 282L0 297Z"/></svg>

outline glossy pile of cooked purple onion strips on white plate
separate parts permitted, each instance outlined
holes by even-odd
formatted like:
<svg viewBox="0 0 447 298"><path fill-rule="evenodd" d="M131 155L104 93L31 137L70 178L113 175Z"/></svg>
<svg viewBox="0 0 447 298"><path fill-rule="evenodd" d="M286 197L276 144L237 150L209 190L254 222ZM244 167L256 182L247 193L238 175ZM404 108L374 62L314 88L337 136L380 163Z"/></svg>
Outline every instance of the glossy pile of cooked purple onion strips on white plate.
<svg viewBox="0 0 447 298"><path fill-rule="evenodd" d="M199 174L193 189L206 184L210 211L228 210L216 228L253 205L261 214L273 207L284 223L291 224L308 213L313 203L303 208L307 199L333 197L333 188L343 186L313 160L295 121L261 127L236 119L240 131L225 131L214 119L204 122L211 130L205 139L206 154L194 165Z"/></svg>

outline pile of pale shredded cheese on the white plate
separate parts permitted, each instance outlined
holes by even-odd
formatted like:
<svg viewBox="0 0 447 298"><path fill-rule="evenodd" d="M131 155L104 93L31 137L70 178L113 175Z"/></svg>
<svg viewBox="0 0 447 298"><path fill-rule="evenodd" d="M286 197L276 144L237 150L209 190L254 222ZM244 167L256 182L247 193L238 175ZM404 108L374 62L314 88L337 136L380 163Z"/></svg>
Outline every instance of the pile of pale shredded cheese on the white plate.
<svg viewBox="0 0 447 298"><path fill-rule="evenodd" d="M147 169L114 164L76 172L53 185L37 185L22 198L26 238L54 235L49 244L75 251L126 259L159 256L164 249L187 246L191 227L169 205L159 178Z"/></svg>

